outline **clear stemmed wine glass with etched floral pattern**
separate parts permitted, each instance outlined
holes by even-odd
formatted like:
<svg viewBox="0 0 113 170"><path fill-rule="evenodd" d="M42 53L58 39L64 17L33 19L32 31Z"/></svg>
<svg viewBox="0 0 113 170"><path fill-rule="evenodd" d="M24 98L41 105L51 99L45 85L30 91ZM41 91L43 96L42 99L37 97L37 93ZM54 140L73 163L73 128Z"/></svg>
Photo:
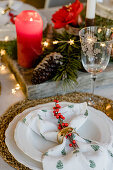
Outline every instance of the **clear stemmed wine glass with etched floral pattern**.
<svg viewBox="0 0 113 170"><path fill-rule="evenodd" d="M112 30L105 27L86 27L79 32L81 41L81 60L83 67L91 73L91 98L89 105L94 105L94 82L97 74L105 70L109 63L112 49Z"/></svg>

